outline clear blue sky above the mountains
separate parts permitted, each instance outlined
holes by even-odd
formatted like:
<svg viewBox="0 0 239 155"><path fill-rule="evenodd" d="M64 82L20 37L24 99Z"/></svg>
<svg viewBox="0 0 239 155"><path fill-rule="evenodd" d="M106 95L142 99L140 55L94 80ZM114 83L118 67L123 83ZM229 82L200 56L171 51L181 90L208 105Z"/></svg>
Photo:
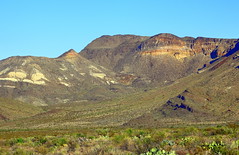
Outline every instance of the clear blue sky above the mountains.
<svg viewBox="0 0 239 155"><path fill-rule="evenodd" d="M57 57L102 35L239 38L238 0L0 0L0 59Z"/></svg>

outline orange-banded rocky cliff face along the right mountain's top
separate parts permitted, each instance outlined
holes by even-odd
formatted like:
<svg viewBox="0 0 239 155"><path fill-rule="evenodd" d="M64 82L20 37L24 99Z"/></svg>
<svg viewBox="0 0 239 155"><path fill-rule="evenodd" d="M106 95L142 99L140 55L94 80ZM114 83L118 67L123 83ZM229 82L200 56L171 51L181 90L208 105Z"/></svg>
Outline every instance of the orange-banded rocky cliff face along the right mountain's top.
<svg viewBox="0 0 239 155"><path fill-rule="evenodd" d="M236 39L186 37L179 38L172 34L159 34L146 40L139 46L141 55L170 55L176 59L183 59L196 54L204 54L212 59L225 55L232 49Z"/></svg>

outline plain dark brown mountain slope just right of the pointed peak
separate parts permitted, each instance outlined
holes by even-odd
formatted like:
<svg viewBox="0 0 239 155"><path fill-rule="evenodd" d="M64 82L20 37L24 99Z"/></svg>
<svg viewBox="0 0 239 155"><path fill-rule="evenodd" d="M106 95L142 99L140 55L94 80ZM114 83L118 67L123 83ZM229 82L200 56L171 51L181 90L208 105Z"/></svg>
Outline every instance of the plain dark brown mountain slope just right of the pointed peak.
<svg viewBox="0 0 239 155"><path fill-rule="evenodd" d="M115 70L120 61L127 59L130 52L149 37L135 35L102 36L87 45L80 55L90 61Z"/></svg>

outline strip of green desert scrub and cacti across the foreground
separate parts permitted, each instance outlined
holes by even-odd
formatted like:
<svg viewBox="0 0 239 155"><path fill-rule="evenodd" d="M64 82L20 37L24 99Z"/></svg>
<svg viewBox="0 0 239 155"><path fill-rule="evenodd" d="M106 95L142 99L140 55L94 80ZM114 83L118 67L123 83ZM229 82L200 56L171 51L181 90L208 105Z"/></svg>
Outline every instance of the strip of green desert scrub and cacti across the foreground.
<svg viewBox="0 0 239 155"><path fill-rule="evenodd" d="M190 130L190 132L189 132ZM0 154L232 154L239 153L239 127L159 129L91 128L11 131L0 139ZM0 135L4 132L1 131ZM187 133L185 133L187 132ZM36 135L32 135L35 133ZM195 134L196 133L196 134Z"/></svg>

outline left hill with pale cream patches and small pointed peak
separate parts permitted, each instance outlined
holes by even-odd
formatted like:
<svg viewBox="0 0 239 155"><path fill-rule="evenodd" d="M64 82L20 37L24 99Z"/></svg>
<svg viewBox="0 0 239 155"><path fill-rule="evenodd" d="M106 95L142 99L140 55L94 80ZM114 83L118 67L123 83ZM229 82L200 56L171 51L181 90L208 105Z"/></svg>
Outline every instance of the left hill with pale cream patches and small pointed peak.
<svg viewBox="0 0 239 155"><path fill-rule="evenodd" d="M56 59L11 57L0 61L0 96L45 106L117 96L115 74L70 50ZM115 88L116 89L116 88Z"/></svg>

